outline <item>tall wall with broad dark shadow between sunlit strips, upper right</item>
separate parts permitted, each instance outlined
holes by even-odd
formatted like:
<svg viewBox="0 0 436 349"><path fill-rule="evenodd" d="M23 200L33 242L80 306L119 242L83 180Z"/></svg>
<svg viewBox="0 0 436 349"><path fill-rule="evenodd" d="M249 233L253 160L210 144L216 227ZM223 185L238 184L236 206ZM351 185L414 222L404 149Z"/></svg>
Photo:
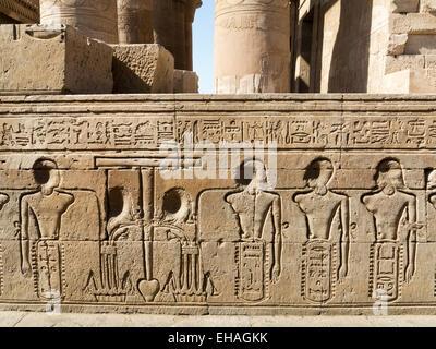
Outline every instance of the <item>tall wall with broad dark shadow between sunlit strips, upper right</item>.
<svg viewBox="0 0 436 349"><path fill-rule="evenodd" d="M384 91L390 0L335 1L323 12L322 93Z"/></svg>

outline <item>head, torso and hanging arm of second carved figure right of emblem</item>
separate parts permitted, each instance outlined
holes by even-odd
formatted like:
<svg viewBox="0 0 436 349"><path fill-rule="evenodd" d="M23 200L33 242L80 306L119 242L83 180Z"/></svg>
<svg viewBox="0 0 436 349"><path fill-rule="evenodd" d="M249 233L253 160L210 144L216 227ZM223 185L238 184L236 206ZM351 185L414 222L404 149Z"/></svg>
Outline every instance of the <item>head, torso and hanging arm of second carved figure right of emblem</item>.
<svg viewBox="0 0 436 349"><path fill-rule="evenodd" d="M334 177L334 165L328 158L320 157L313 160L304 174L304 180L311 191L296 193L293 201L306 217L308 241L329 241L331 222L339 212L341 227L339 277L346 277L350 250L349 197L327 188Z"/></svg>

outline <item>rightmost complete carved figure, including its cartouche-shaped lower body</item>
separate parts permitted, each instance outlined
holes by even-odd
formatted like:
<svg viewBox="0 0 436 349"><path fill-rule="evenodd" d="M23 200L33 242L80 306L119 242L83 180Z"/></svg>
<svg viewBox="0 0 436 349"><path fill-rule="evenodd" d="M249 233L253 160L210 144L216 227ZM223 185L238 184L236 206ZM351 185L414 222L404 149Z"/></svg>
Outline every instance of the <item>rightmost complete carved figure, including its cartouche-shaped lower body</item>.
<svg viewBox="0 0 436 349"><path fill-rule="evenodd" d="M376 190L362 196L375 226L370 293L384 292L393 301L401 296L402 281L410 282L415 273L416 230L422 225L416 222L416 197L404 191L403 171L397 159L380 161L374 179Z"/></svg>

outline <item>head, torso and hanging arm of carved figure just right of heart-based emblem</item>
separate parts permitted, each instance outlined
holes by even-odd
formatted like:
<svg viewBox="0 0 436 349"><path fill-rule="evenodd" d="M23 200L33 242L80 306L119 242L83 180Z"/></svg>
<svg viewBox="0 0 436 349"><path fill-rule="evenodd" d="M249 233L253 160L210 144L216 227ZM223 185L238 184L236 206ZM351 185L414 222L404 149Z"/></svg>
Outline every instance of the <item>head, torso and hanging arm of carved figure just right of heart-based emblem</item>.
<svg viewBox="0 0 436 349"><path fill-rule="evenodd" d="M245 163L247 168L250 163ZM277 282L281 270L281 201L276 193L267 192L267 174L259 160L252 161L253 179L238 193L226 196L237 214L241 229L241 240L247 242L265 242L264 233L268 219L271 219L272 255L271 280ZM270 217L270 218L269 218Z"/></svg>

